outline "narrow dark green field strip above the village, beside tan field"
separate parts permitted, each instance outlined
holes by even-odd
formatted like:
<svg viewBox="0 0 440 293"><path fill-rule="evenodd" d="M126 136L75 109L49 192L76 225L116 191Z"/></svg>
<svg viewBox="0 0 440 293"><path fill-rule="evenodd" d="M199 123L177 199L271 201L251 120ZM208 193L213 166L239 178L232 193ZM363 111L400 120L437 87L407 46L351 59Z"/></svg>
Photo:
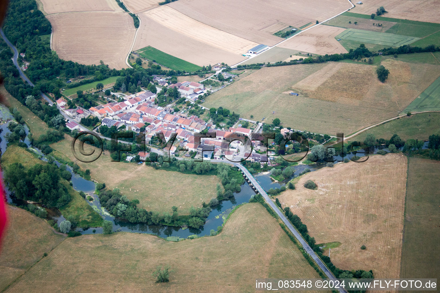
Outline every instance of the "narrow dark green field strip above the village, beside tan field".
<svg viewBox="0 0 440 293"><path fill-rule="evenodd" d="M198 65L174 57L170 54L166 54L165 52L159 51L158 49L155 49L150 46L142 48L136 52L141 57L157 62L161 65L164 65L165 67L168 67L169 69L184 70L189 72L202 69L202 67Z"/></svg>

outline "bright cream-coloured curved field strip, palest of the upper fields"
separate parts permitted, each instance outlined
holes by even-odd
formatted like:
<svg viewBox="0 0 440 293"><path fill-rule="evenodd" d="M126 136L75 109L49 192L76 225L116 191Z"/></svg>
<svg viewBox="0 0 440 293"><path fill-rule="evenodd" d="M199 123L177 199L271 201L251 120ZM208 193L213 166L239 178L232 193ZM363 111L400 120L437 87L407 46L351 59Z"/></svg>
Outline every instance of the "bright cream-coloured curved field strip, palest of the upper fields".
<svg viewBox="0 0 440 293"><path fill-rule="evenodd" d="M166 5L147 11L145 15L169 29L178 30L185 36L231 53L244 54L248 49L257 46L255 42L205 25Z"/></svg>

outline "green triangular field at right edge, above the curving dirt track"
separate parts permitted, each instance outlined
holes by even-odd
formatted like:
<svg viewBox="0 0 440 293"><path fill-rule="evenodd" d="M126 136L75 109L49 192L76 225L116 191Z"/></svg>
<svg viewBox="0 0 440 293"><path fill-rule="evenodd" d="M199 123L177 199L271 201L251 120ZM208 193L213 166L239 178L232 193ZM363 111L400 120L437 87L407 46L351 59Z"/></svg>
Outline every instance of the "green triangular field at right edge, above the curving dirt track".
<svg viewBox="0 0 440 293"><path fill-rule="evenodd" d="M440 77L408 105L402 113L440 110Z"/></svg>

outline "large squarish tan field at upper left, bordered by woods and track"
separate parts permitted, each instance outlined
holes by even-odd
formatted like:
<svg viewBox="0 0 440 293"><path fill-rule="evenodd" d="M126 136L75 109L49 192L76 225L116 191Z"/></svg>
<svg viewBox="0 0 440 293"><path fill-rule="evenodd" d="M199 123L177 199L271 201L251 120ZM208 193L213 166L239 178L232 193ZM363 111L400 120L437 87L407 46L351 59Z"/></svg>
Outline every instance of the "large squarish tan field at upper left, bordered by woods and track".
<svg viewBox="0 0 440 293"><path fill-rule="evenodd" d="M47 18L52 24L52 48L60 58L96 65L102 60L110 68L127 67L125 58L136 31L128 13L78 12Z"/></svg>

